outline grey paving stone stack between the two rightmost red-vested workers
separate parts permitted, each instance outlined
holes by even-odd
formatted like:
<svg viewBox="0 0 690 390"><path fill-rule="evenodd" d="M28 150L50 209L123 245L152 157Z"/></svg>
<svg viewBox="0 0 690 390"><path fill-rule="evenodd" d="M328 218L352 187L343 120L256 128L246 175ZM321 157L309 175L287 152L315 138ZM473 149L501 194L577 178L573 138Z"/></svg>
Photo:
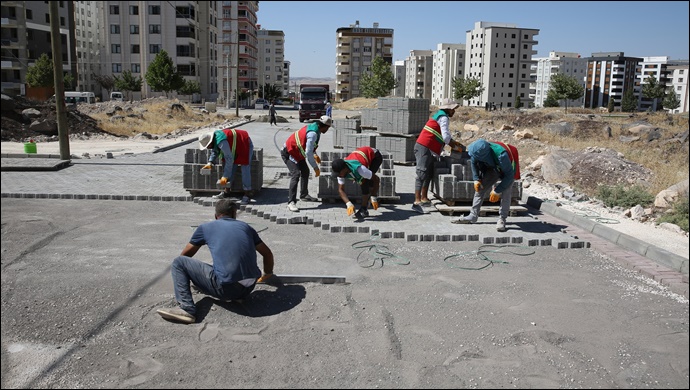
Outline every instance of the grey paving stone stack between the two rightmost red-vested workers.
<svg viewBox="0 0 690 390"><path fill-rule="evenodd" d="M472 202L474 197L474 179L472 178L472 167L467 152L451 152L449 156L442 156L436 163L436 175L433 183L436 194L446 203ZM489 199L489 193L485 200ZM511 203L517 203L522 199L522 181L513 182L511 193Z"/></svg>

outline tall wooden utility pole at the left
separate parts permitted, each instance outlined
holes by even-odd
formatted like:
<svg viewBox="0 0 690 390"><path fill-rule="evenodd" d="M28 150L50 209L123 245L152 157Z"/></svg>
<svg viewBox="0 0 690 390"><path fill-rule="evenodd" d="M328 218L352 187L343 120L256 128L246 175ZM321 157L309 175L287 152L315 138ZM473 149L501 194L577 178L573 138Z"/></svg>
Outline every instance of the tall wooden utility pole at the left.
<svg viewBox="0 0 690 390"><path fill-rule="evenodd" d="M60 159L69 160L69 128L67 127L67 107L65 106L65 84L62 77L62 39L60 39L60 15L58 2L50 4L50 46L53 51L53 79L55 83L55 112L58 121L58 141Z"/></svg>

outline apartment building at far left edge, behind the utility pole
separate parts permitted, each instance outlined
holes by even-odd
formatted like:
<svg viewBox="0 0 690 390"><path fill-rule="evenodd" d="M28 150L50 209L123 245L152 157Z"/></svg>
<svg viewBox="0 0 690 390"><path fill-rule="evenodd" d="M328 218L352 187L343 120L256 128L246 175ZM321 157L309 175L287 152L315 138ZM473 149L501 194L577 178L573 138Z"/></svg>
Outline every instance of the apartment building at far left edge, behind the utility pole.
<svg viewBox="0 0 690 390"><path fill-rule="evenodd" d="M45 1L3 1L0 5L2 29L2 93L10 96L26 94L26 71L42 54L51 59L50 7ZM58 4L62 70L76 81L77 48L74 2ZM74 86L68 86L67 90Z"/></svg>

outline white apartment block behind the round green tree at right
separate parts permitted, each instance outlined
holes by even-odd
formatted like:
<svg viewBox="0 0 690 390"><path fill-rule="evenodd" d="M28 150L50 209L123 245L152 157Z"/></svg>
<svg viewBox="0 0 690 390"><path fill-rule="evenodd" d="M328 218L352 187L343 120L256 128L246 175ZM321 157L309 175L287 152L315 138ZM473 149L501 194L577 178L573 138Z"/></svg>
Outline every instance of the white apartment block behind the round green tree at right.
<svg viewBox="0 0 690 390"><path fill-rule="evenodd" d="M582 87L585 87L585 75L587 74L587 59L578 53L566 53L552 51L548 57L534 58L536 66L532 70L531 89L534 90L534 106L544 107L544 100L551 88L551 76L564 74L575 78ZM570 107L582 107L584 105L584 93L582 97L567 102Z"/></svg>

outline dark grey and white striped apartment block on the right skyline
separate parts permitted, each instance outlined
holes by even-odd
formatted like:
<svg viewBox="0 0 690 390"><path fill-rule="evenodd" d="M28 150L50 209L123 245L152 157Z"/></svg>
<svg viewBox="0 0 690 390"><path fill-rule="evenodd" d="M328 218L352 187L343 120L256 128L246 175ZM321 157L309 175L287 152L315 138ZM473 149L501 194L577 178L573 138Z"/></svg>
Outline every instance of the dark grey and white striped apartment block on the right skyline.
<svg viewBox="0 0 690 390"><path fill-rule="evenodd" d="M631 90L636 93L638 66L642 58L626 57L623 52L592 53L587 58L585 79L585 108L607 107L613 99L620 109L623 95Z"/></svg>

